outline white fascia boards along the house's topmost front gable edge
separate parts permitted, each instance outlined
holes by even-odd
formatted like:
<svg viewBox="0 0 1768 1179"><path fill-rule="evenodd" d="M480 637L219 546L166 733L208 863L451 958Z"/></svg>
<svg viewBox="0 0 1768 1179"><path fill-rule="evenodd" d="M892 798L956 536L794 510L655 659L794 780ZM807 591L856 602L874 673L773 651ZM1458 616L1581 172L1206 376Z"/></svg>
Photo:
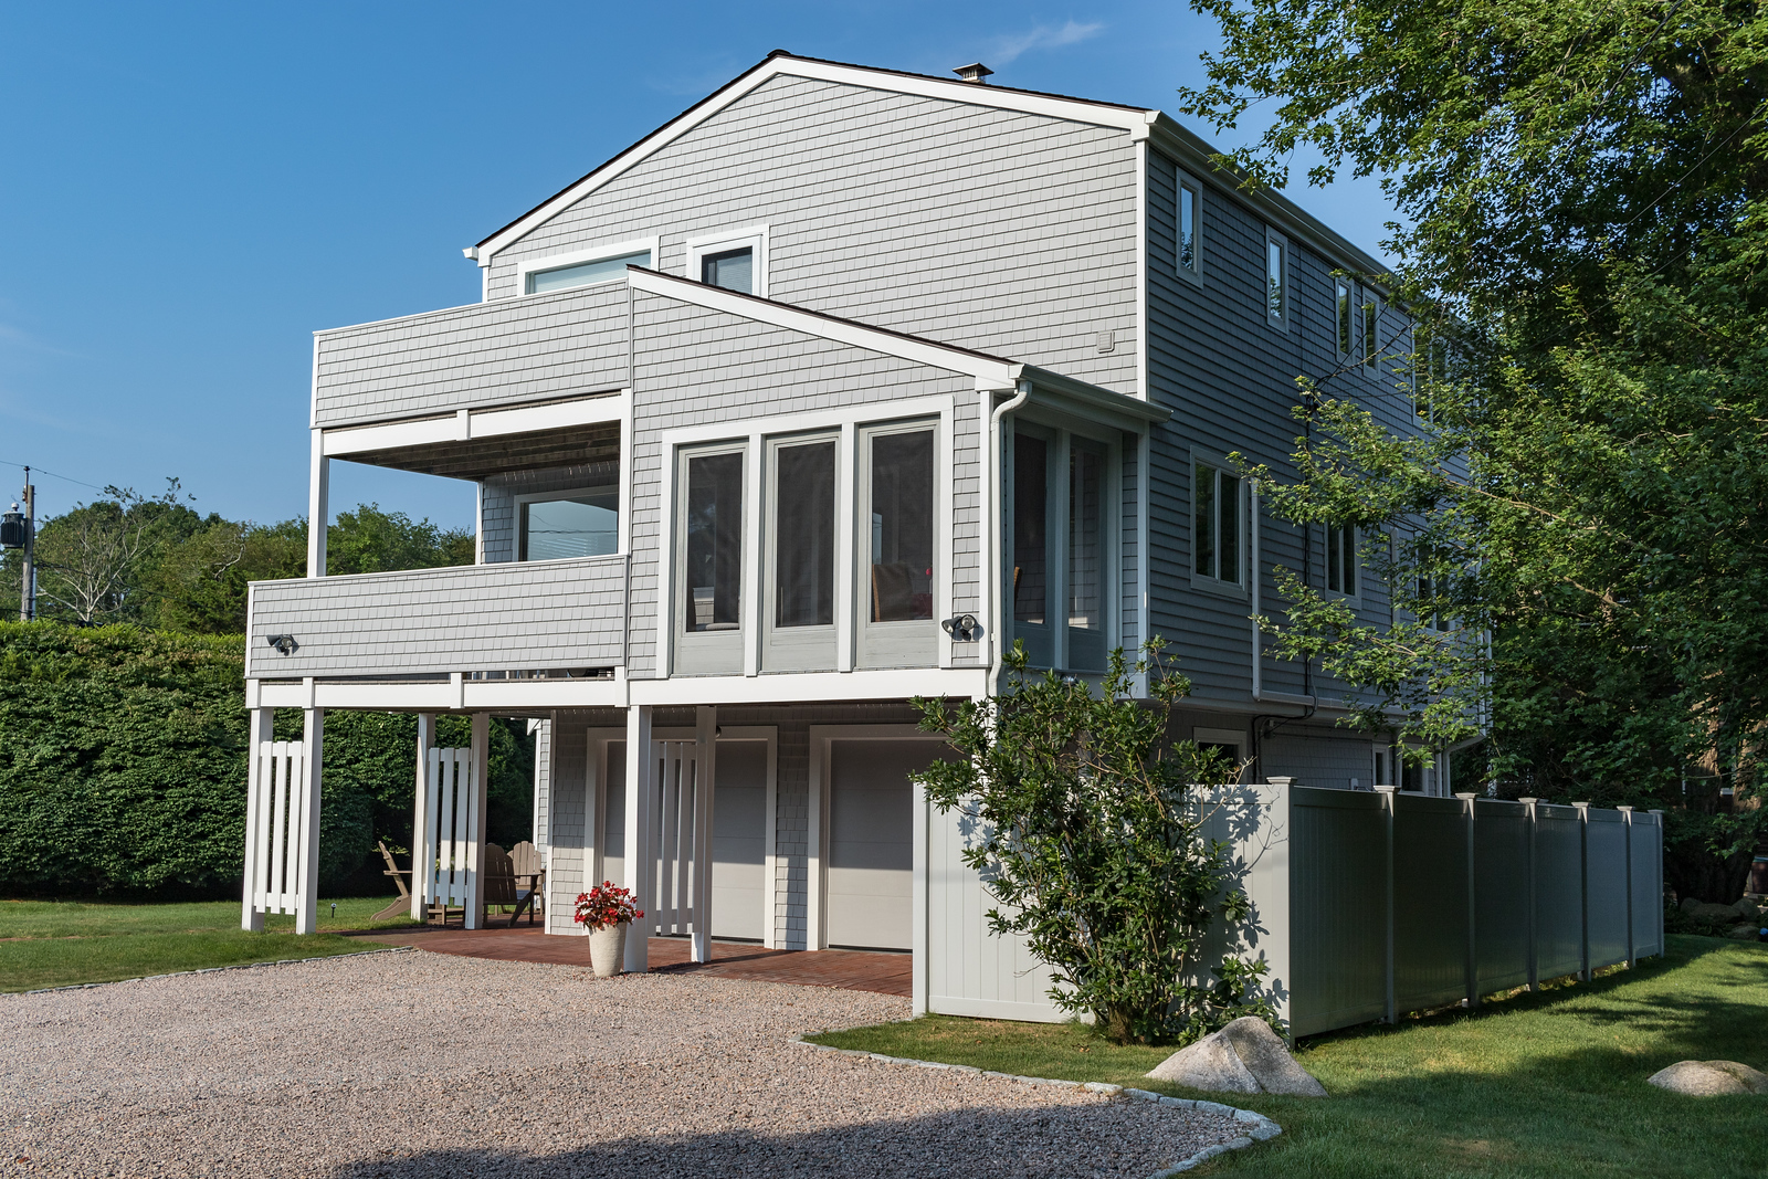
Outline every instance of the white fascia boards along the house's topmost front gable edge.
<svg viewBox="0 0 1768 1179"><path fill-rule="evenodd" d="M539 205L527 216L513 221L509 226L474 246L472 249L477 251L472 255L474 260L481 267L490 265L492 256L500 249L522 240L537 226L552 221L555 216L583 200L601 186L619 179L633 166L644 163L705 120L721 113L730 104L780 76L842 81L865 87L868 90L895 90L898 94L914 94L928 99L946 99L948 103L967 103L971 106L990 106L995 110L1047 115L1050 118L1066 118L1070 122L1084 122L1094 127L1116 127L1139 138L1146 136L1147 127L1160 117L1160 111L1100 106L1084 99L1063 99L1045 94L1017 94L999 87L979 87L971 81L916 78L893 74L889 71L865 69L859 65L836 65L833 62L806 62L792 57L776 57L762 62L748 76L737 78L723 92L705 99L691 111L663 124L654 133L605 163L601 168L596 168L592 173L548 200L545 205Z"/></svg>

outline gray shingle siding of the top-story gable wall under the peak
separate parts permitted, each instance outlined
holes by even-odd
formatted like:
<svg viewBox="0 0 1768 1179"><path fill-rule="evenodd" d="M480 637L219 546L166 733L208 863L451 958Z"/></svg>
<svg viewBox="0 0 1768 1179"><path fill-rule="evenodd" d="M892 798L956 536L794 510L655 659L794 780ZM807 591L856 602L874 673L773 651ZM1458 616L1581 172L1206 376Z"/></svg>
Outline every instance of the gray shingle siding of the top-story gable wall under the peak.
<svg viewBox="0 0 1768 1179"><path fill-rule="evenodd" d="M1135 147L1123 131L774 78L499 253L769 226L769 295L1135 392ZM1100 354L1094 334L1116 332Z"/></svg>

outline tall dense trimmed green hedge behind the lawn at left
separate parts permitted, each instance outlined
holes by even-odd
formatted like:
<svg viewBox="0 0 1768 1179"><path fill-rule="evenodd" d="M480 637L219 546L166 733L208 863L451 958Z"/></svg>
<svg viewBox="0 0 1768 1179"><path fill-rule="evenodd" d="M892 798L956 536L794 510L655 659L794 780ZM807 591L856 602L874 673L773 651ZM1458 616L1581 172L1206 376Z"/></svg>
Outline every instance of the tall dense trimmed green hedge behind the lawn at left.
<svg viewBox="0 0 1768 1179"><path fill-rule="evenodd" d="M0 891L237 894L242 700L237 636L0 622ZM444 718L442 744L467 744L467 726ZM297 737L301 714L278 714L276 728ZM377 884L377 838L408 848L415 739L410 714L325 718L322 889ZM530 799L525 725L493 721L493 841L529 836Z"/></svg>

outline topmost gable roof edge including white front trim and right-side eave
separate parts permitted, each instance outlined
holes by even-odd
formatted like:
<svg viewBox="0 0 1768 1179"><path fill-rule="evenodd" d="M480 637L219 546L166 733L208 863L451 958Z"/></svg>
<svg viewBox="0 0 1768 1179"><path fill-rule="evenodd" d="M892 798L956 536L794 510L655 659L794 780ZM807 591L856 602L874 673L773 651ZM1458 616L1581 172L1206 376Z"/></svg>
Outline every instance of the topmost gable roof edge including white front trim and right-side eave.
<svg viewBox="0 0 1768 1179"><path fill-rule="evenodd" d="M978 85L960 78L911 74L879 65L854 65L849 62L829 62L815 57L796 57L785 49L774 49L758 64L743 74L737 74L723 87L684 110L681 115L675 115L645 138L638 140L587 175L559 189L539 205L527 210L495 233L490 233L463 253L469 258L477 260L481 267L490 265L490 258L504 247L518 242L534 228L545 224L610 180L624 175L769 80L781 76L840 81L856 87L870 87L873 90L895 90L898 94L916 94L921 97L969 103L971 106L990 106L995 110L1066 118L1070 122L1082 122L1096 127L1114 127L1124 131L1132 140L1153 140L1162 152L1172 156L1186 170L1199 173L1200 179L1213 180L1218 186L1218 191L1246 203L1261 217L1284 230L1292 239L1310 244L1321 255L1342 260L1344 265L1365 274L1384 274L1388 269L1365 249L1337 233L1326 223L1305 212L1287 196L1271 189L1245 191L1238 187L1238 177L1223 179L1213 163L1216 148L1211 147L1202 136L1183 127L1158 110L1124 106L1121 103L1101 103L1098 99L1077 99L1066 94L1045 94L1041 90Z"/></svg>

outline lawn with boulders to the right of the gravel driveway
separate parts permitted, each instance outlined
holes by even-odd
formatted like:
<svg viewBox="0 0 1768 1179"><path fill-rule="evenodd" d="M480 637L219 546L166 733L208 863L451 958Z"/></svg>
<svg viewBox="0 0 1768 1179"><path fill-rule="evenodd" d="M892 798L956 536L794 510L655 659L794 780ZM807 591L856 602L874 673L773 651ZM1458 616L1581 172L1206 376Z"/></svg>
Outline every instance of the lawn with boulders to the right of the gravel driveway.
<svg viewBox="0 0 1768 1179"><path fill-rule="evenodd" d="M1768 1068L1768 947L1671 937L1669 955L1478 1013L1319 1036L1298 1059L1333 1096L1199 1094L1142 1076L1170 1048L1116 1046L1078 1023L926 1016L815 1036L838 1048L1215 1096L1284 1137L1195 1174L1310 1179L1763 1175L1764 1098L1644 1084L1676 1061Z"/></svg>

